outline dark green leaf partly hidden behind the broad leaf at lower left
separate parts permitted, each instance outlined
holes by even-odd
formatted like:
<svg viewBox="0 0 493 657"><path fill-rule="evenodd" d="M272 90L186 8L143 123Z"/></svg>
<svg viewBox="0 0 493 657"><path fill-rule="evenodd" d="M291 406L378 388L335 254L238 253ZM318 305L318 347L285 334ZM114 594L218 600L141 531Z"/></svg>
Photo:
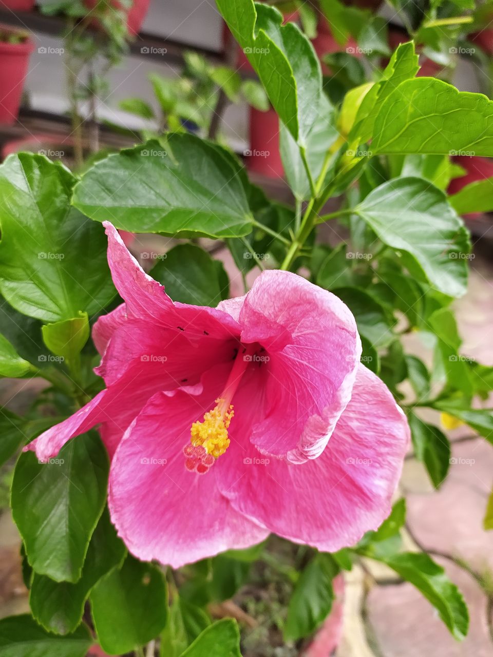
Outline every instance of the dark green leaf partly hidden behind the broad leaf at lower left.
<svg viewBox="0 0 493 657"><path fill-rule="evenodd" d="M125 552L105 509L91 537L78 582L56 582L34 574L29 604L35 620L57 634L74 631L82 620L89 592L103 575L122 562Z"/></svg>

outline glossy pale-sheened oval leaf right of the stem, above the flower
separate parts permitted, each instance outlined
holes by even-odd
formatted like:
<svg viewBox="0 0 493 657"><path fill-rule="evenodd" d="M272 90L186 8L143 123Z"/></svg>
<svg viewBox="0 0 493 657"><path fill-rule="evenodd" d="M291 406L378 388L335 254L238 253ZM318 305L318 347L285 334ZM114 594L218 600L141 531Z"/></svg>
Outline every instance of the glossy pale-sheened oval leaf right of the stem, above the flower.
<svg viewBox="0 0 493 657"><path fill-rule="evenodd" d="M383 183L355 208L384 244L408 254L417 269L440 292L461 296L467 287L471 248L463 222L446 195L428 181L398 178Z"/></svg>

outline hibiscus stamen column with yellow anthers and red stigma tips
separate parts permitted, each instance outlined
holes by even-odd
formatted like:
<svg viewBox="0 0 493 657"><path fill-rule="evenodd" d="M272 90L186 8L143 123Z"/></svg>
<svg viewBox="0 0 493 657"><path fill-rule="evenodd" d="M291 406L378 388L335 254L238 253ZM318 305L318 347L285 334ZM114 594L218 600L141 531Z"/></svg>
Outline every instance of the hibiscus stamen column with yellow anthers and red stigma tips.
<svg viewBox="0 0 493 657"><path fill-rule="evenodd" d="M216 406L204 413L201 422L193 422L190 429L191 444L183 447L187 470L204 474L229 447L227 430L235 415L231 399L248 364L252 362L252 354L256 348L258 347L251 344L239 349L222 395L216 399Z"/></svg>

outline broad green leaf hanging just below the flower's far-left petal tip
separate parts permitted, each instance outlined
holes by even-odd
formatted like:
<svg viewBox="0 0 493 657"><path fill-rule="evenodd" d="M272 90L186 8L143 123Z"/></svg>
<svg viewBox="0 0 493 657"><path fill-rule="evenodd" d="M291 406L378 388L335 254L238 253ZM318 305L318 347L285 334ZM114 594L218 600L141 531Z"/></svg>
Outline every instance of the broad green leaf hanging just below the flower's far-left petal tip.
<svg viewBox="0 0 493 657"><path fill-rule="evenodd" d="M96 432L70 440L55 459L20 455L12 482L12 514L37 574L76 582L103 512L108 455Z"/></svg>

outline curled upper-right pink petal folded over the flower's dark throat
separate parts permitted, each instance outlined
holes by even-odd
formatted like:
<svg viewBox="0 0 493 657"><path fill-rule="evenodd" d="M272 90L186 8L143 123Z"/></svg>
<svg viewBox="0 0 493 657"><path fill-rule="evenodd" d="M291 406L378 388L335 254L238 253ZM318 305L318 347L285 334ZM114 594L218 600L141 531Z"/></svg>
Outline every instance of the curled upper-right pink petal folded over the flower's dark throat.
<svg viewBox="0 0 493 657"><path fill-rule="evenodd" d="M270 374L266 415L250 440L292 463L316 458L351 397L360 361L352 313L337 296L296 274L264 271L245 298L239 323L242 342L266 348Z"/></svg>

